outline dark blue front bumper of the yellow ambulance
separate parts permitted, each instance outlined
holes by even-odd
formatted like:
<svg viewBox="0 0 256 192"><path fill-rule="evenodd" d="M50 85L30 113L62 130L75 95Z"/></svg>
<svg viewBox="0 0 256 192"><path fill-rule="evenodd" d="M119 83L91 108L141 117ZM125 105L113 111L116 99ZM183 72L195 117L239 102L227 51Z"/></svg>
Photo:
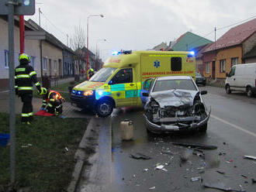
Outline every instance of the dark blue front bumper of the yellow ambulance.
<svg viewBox="0 0 256 192"><path fill-rule="evenodd" d="M85 96L71 94L71 105L76 108L93 109L95 108L95 104L96 104L95 95L85 97Z"/></svg>

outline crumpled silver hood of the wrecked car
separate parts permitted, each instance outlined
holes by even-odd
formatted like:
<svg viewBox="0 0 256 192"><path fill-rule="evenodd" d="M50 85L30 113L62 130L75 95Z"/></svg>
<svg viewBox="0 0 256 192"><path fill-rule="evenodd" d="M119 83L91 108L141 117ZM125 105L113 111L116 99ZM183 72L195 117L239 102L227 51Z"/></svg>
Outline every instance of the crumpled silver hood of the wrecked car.
<svg viewBox="0 0 256 192"><path fill-rule="evenodd" d="M195 95L198 93L199 91L173 89L168 91L153 92L150 96L151 98L154 98L155 101L157 101L161 108L164 108L165 106L192 106Z"/></svg>

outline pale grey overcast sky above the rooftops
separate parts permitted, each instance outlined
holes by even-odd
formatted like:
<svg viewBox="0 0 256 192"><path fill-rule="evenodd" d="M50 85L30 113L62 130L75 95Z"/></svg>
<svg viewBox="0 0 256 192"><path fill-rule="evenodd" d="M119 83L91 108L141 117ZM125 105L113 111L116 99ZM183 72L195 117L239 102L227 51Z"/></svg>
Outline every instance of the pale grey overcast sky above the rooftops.
<svg viewBox="0 0 256 192"><path fill-rule="evenodd" d="M43 29L65 44L79 23L86 32L88 15L104 15L89 18L89 49L95 53L97 44L103 60L111 50L147 50L187 31L214 40L215 26L256 18L255 0L36 0L26 19L38 23L39 8ZM217 39L228 29L217 30Z"/></svg>

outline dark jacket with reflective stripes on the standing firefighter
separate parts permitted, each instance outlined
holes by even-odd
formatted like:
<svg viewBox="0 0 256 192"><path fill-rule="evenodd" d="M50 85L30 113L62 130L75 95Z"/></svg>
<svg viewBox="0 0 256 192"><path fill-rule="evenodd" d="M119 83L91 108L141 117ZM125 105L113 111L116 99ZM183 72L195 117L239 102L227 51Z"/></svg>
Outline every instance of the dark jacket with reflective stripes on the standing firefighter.
<svg viewBox="0 0 256 192"><path fill-rule="evenodd" d="M36 85L38 91L41 91L41 85L36 78L36 71L29 64L20 64L15 69L15 87L16 94L32 94L33 84Z"/></svg>

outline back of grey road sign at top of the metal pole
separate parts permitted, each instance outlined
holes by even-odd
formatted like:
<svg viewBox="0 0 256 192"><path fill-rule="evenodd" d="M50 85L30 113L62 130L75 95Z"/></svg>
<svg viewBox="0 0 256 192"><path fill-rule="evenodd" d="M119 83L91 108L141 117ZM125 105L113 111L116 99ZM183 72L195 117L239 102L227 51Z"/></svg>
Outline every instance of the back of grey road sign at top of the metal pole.
<svg viewBox="0 0 256 192"><path fill-rule="evenodd" d="M14 15L34 15L35 0L1 0L0 15L8 15L8 5L14 5Z"/></svg>

